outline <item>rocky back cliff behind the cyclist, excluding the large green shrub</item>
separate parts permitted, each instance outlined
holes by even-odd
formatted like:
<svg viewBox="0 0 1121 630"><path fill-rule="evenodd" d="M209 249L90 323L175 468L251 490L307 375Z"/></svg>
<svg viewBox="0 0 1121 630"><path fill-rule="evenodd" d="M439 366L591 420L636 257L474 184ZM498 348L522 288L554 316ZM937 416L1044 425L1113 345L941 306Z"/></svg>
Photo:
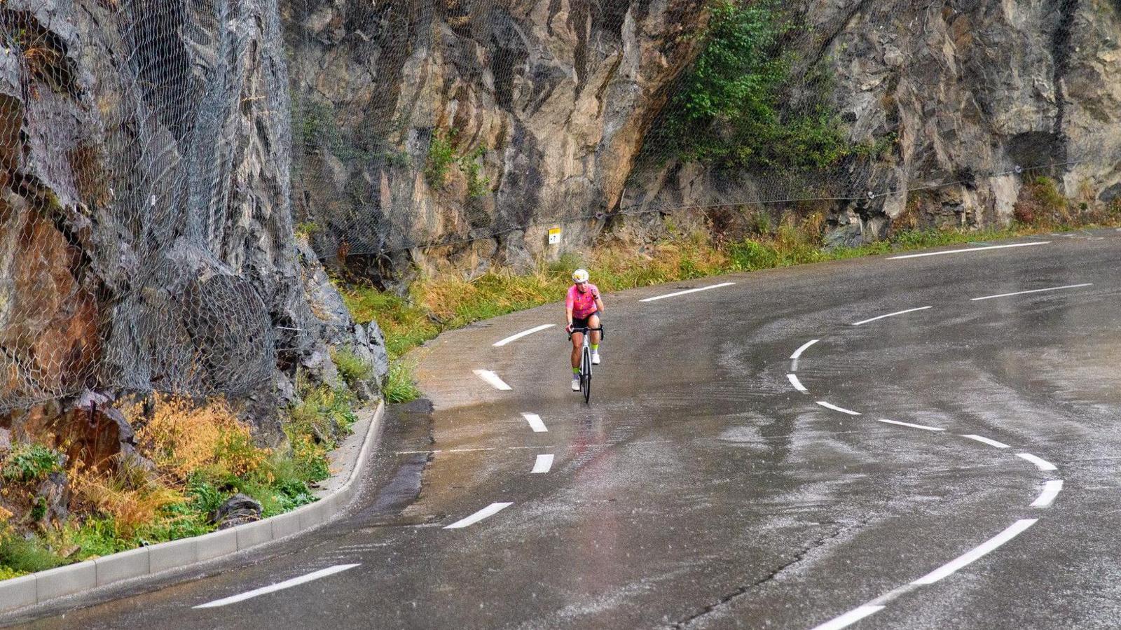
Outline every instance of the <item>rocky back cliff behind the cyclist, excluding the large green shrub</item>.
<svg viewBox="0 0 1121 630"><path fill-rule="evenodd" d="M708 6L289 8L297 213L317 251L373 277L478 268L543 251L553 224L578 247L612 214L782 212L817 183L827 185L809 196L831 197L839 242L880 238L905 212L925 224L1008 221L1040 174L1088 205L1121 193L1121 7L1111 0L784 4L803 26L780 52L796 59L793 76L826 74L849 141L886 150L806 176L638 164L704 45ZM433 243L450 247L408 249Z"/></svg>

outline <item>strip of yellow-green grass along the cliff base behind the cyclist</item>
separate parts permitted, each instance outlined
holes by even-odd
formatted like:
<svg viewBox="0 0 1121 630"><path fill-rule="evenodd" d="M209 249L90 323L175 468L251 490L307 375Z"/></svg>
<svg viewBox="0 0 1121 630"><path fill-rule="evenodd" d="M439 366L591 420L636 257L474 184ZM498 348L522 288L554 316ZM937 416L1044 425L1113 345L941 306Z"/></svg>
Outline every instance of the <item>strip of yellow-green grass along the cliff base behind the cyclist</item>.
<svg viewBox="0 0 1121 630"><path fill-rule="evenodd" d="M912 205L884 240L834 248L826 247L821 213L799 217L756 212L749 215L748 235L732 242L714 238L704 226L679 229L666 220L666 237L654 244L636 247L609 240L587 253L566 253L559 260L539 261L528 272L495 267L474 277L423 278L404 296L342 282L340 289L358 322L377 321L381 326L393 360L386 397L388 401L401 402L420 395L409 364L402 362L407 359L400 359L405 353L444 331L557 302L569 285L569 274L577 267L591 269L592 279L601 290L615 291L807 262L1080 228L1121 226L1121 203L1095 212L1081 202L1065 200L1046 177L1029 182L1016 206L1016 220L1007 228L920 229L917 213Z"/></svg>

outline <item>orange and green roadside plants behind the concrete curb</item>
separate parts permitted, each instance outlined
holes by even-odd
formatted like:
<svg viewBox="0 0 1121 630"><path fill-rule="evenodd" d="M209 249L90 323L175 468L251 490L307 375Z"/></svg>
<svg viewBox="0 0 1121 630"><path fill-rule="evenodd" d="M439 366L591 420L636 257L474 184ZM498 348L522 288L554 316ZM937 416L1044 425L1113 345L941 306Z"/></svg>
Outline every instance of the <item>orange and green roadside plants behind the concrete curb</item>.
<svg viewBox="0 0 1121 630"><path fill-rule="evenodd" d="M369 377L353 353L335 359L345 381ZM297 389L303 401L288 409L287 441L275 448L223 399L154 395L121 409L137 432L135 455L87 464L67 461L66 445L0 452L0 580L213 531L216 510L237 493L258 501L261 518L315 501L313 484L331 473L327 453L356 420L354 397L300 379ZM50 488L67 495L68 515Z"/></svg>

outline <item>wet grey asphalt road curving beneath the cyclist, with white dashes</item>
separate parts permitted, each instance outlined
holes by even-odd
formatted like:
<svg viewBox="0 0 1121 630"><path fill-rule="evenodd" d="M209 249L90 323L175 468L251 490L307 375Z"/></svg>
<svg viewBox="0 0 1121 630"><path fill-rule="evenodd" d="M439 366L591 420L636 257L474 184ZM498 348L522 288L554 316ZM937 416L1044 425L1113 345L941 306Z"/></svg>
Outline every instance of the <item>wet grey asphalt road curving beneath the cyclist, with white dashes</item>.
<svg viewBox="0 0 1121 630"><path fill-rule="evenodd" d="M3 621L808 629L871 603L854 628L1121 627L1121 232L1034 240L1051 242L606 295L590 406L568 391L558 306L447 333L418 354L434 410L389 414L344 518ZM544 323L558 325L491 345ZM531 473L544 454L549 471ZM1056 480L1054 502L1031 507ZM493 502L511 504L443 529ZM340 564L359 566L192 608Z"/></svg>

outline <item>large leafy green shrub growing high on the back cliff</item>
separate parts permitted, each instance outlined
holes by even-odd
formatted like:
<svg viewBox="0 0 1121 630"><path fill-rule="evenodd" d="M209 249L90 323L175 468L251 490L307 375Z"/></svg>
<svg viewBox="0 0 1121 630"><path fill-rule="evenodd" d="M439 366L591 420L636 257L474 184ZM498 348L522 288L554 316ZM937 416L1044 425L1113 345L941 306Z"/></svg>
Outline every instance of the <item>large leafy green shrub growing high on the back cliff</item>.
<svg viewBox="0 0 1121 630"><path fill-rule="evenodd" d="M791 77L796 59L781 41L798 27L782 2L712 0L710 7L703 49L647 146L661 147L663 157L752 170L816 169L883 150L881 141L845 139L822 71ZM810 93L791 104L794 83Z"/></svg>

